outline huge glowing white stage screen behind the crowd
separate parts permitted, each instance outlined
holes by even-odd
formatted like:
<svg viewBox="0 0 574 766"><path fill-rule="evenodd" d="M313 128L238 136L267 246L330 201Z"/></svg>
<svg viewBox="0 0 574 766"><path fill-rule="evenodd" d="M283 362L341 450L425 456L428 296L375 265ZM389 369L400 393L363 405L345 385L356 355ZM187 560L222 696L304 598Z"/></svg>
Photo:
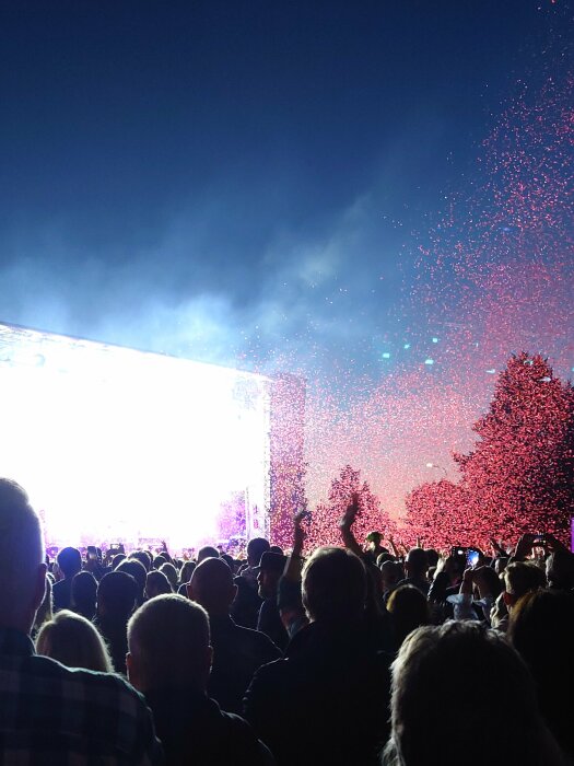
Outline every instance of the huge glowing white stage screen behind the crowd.
<svg viewBox="0 0 574 766"><path fill-rule="evenodd" d="M0 475L50 545L268 534L271 381L0 325Z"/></svg>

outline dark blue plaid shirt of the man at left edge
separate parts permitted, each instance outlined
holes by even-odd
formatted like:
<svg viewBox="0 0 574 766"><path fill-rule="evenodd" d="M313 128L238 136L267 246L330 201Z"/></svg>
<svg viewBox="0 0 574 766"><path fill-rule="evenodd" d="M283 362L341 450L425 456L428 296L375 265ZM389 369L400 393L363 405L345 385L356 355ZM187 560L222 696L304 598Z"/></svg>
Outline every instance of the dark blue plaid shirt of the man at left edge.
<svg viewBox="0 0 574 766"><path fill-rule="evenodd" d="M0 764L162 763L150 710L128 683L38 657L28 636L0 627Z"/></svg>

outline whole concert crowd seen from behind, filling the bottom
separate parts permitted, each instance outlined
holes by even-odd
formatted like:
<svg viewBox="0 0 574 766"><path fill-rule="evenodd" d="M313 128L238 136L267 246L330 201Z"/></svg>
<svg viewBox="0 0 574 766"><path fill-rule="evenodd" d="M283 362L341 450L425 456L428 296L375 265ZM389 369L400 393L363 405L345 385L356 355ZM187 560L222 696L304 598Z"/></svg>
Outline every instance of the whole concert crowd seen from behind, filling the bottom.
<svg viewBox="0 0 574 766"><path fill-rule="evenodd" d="M17 766L574 763L574 554L353 534L67 547L0 479L0 759Z"/></svg>

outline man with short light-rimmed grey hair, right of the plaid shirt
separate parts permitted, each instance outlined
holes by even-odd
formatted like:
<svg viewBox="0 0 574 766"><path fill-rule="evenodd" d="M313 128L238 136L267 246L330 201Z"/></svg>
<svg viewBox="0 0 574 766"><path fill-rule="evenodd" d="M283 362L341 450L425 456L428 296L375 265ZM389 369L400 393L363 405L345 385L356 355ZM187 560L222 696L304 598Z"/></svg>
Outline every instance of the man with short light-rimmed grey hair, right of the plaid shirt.
<svg viewBox="0 0 574 766"><path fill-rule="evenodd" d="M129 622L128 645L128 677L153 710L167 766L273 763L249 724L207 695L212 649L201 606L175 593L148 601Z"/></svg>

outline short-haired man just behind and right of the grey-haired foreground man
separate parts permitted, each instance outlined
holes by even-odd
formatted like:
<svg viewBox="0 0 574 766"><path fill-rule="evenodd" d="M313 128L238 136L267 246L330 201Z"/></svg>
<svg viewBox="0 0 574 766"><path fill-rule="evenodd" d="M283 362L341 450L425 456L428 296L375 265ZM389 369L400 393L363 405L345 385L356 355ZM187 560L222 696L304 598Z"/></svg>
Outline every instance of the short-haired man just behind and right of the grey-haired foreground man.
<svg viewBox="0 0 574 766"><path fill-rule="evenodd" d="M208 558L194 571L187 595L209 614L213 664L208 690L224 710L241 713L243 696L256 670L281 652L265 634L236 625L230 616L237 585L221 558Z"/></svg>

